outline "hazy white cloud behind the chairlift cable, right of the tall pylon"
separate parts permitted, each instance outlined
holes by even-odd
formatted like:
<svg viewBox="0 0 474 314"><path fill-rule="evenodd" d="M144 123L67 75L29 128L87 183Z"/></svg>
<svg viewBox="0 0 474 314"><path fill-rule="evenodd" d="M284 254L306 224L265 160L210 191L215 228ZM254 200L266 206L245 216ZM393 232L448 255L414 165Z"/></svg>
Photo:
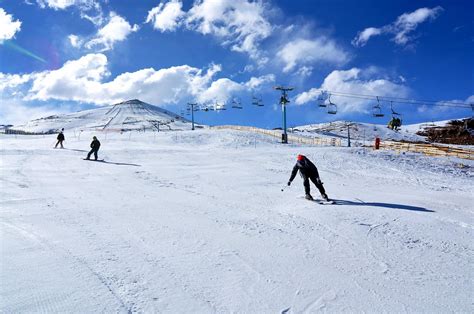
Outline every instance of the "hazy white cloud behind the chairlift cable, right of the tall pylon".
<svg viewBox="0 0 474 314"><path fill-rule="evenodd" d="M325 79L319 88L312 88L309 91L296 96L295 103L302 105L317 99L321 91L333 91L346 94L374 95L407 97L410 89L402 84L397 84L386 78L379 78L381 75L373 68L359 69L352 68L346 71L333 71ZM331 101L336 103L340 112L364 112L367 111L373 101L366 99L347 98L331 96Z"/></svg>

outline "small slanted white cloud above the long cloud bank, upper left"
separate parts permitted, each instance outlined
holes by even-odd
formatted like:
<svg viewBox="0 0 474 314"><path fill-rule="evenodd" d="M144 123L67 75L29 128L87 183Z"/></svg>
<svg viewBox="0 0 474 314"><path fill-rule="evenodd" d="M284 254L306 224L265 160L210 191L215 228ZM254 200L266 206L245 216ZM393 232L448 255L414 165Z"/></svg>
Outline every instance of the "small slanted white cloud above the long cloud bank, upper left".
<svg viewBox="0 0 474 314"><path fill-rule="evenodd" d="M111 12L109 22L99 29L97 35L84 46L88 49L98 46L99 51L107 51L112 49L116 42L125 40L130 33L138 29L138 25L131 26L123 17Z"/></svg>

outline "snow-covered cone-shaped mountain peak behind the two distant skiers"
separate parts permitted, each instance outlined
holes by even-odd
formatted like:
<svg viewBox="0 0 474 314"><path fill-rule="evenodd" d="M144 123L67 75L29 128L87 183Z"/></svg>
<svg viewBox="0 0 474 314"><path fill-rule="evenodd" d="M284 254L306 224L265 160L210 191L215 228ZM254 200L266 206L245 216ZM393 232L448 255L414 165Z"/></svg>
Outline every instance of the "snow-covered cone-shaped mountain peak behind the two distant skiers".
<svg viewBox="0 0 474 314"><path fill-rule="evenodd" d="M13 129L26 132L56 132L64 128L80 130L185 130L191 122L176 113L138 99L113 106L54 115L32 120Z"/></svg>

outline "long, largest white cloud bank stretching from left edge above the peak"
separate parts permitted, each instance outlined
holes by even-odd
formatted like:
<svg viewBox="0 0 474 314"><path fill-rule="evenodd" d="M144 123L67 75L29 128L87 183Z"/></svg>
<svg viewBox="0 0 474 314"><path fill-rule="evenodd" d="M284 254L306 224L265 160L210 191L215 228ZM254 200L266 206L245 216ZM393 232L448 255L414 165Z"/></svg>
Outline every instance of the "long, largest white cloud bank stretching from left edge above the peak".
<svg viewBox="0 0 474 314"><path fill-rule="evenodd" d="M274 79L273 76L251 78L248 82L234 82L228 78L215 80L220 65L207 69L188 65L155 70L153 68L127 72L108 80L110 72L104 54L88 54L66 62L52 71L29 75L0 73L0 91L5 97L24 101L76 101L93 104L113 104L139 98L156 105L166 106L189 100L207 102L227 101L233 93L258 87Z"/></svg>

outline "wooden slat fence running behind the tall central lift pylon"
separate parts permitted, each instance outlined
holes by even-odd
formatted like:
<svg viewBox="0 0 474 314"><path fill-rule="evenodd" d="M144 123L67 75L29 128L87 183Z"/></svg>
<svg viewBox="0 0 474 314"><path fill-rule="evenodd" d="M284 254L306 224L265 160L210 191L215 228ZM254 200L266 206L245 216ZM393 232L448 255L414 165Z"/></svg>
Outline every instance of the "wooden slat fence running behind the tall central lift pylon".
<svg viewBox="0 0 474 314"><path fill-rule="evenodd" d="M265 134L276 138L281 138L281 130L266 130L250 126L239 125L219 125L212 127L213 129L231 129L238 131L247 131L259 134ZM304 137L293 134L288 134L288 142L317 145L317 146L341 146L341 139L339 138L318 138L318 137Z"/></svg>

